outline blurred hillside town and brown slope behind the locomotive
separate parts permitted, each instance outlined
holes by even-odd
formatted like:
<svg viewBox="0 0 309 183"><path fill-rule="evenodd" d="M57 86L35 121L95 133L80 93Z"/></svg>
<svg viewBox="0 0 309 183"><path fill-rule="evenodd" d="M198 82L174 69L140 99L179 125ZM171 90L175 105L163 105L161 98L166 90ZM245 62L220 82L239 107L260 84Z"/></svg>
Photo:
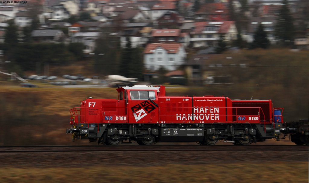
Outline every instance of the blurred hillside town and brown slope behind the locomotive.
<svg viewBox="0 0 309 183"><path fill-rule="evenodd" d="M0 5L0 145L72 144L71 108L135 84L271 99L285 121L308 119L307 0Z"/></svg>

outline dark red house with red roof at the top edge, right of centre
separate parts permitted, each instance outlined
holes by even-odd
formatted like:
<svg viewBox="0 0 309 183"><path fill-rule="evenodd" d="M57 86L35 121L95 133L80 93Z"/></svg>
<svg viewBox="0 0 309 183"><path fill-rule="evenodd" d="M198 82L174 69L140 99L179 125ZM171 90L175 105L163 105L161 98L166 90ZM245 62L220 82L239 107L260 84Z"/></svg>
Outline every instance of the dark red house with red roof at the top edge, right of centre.
<svg viewBox="0 0 309 183"><path fill-rule="evenodd" d="M223 22L229 19L229 10L224 3L205 3L195 13L197 21Z"/></svg>

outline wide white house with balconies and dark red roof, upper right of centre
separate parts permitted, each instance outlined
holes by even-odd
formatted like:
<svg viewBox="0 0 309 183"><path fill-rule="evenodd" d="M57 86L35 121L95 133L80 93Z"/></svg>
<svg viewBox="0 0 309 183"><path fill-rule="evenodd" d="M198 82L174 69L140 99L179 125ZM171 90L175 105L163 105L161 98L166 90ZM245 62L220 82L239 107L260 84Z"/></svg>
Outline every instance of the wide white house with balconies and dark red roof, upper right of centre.
<svg viewBox="0 0 309 183"><path fill-rule="evenodd" d="M237 29L234 21L196 22L191 31L193 47L215 47L220 35L225 35L225 41L231 43L237 39Z"/></svg>

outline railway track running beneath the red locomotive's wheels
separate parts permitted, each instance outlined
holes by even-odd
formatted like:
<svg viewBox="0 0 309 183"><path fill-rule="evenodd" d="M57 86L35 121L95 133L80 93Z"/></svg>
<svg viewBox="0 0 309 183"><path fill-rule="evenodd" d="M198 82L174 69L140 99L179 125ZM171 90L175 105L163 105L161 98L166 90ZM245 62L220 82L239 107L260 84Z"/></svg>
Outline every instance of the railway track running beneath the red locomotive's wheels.
<svg viewBox="0 0 309 183"><path fill-rule="evenodd" d="M298 145L119 145L119 146L0 146L0 153L147 151L308 151Z"/></svg>

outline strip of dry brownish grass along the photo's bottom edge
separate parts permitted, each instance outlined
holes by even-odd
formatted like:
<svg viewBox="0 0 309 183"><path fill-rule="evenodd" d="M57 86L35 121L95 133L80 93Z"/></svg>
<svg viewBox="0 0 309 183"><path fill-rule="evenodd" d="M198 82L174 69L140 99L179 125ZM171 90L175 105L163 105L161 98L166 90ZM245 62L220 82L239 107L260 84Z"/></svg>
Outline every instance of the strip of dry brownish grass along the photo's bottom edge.
<svg viewBox="0 0 309 183"><path fill-rule="evenodd" d="M95 165L100 164L100 165ZM308 162L0 169L0 182L308 182Z"/></svg>

